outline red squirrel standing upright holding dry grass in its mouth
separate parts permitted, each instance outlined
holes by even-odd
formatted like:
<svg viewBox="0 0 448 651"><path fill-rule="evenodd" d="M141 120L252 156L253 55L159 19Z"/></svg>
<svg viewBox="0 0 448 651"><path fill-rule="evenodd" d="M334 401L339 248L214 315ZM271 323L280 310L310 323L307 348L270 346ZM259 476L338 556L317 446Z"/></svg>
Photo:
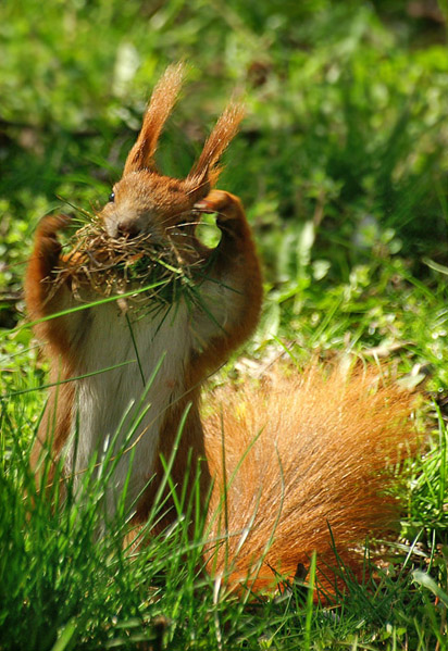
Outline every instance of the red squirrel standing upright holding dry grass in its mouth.
<svg viewBox="0 0 448 651"><path fill-rule="evenodd" d="M126 501L138 498L135 521L144 522L151 509L163 477L161 455L170 458L186 414L171 474L182 487L187 467L200 466L204 501L213 485L210 522L215 534L232 535L213 571L231 558L238 580L261 562L259 579L265 583L276 571L294 574L313 550L325 560L329 528L343 556L350 556L353 543L370 531L382 533L389 515L387 498L378 496L385 481L382 471L411 437L406 422L410 401L394 388L373 391L375 373L345 380L338 373L324 379L315 368L301 376L277 371L252 393L232 387L215 392L209 397L211 416L201 418L201 385L258 324L262 277L239 199L213 189L220 158L242 117L240 107L227 107L185 179L163 176L155 166L158 139L182 80L183 67L170 66L155 86L123 176L98 218L111 242L141 236L161 247L182 241L183 263L195 259L192 281L201 301L187 304L181 298L175 309L167 304L155 315L144 312L132 328L132 299L126 314L110 301L46 321L80 303L73 289L71 254L63 252L59 239L69 220L43 217L25 292L55 386L32 463L37 468L41 455L49 453L54 461L63 460L67 476L80 476L119 428L121 443L141 409L145 378L160 365L145 388L150 408L133 435L136 454ZM221 240L214 249L196 236L201 213L216 214ZM55 283L61 270L66 272L63 281ZM98 299L87 284L83 291L85 301ZM78 379L65 381L71 378ZM128 470L125 453L107 493L108 514L114 512ZM214 518L225 483L225 517ZM174 517L175 510L167 510L161 526Z"/></svg>

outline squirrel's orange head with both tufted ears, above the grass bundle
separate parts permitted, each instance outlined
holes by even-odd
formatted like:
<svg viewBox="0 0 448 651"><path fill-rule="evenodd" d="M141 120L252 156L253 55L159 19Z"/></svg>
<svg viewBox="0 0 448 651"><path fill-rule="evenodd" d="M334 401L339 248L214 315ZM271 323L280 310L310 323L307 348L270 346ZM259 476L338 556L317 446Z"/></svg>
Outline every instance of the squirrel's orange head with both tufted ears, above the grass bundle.
<svg viewBox="0 0 448 651"><path fill-rule="evenodd" d="M219 162L242 120L241 104L231 103L210 134L198 161L184 179L163 176L157 170L154 152L162 127L178 96L184 65L171 65L157 84L136 143L113 187L109 202L100 212L109 236L170 237L173 229L187 228L197 201L203 199L220 174Z"/></svg>

